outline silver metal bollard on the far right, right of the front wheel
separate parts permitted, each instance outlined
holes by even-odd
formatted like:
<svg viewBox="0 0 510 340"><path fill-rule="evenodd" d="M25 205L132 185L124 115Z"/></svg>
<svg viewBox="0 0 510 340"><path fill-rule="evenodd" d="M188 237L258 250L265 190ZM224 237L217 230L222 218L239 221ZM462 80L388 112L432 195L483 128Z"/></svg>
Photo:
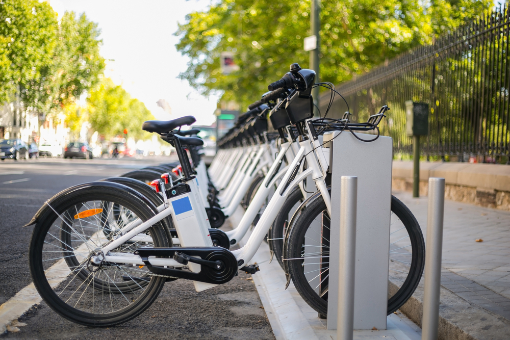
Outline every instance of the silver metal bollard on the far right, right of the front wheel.
<svg viewBox="0 0 510 340"><path fill-rule="evenodd" d="M438 338L444 208L445 179L429 178L422 340Z"/></svg>

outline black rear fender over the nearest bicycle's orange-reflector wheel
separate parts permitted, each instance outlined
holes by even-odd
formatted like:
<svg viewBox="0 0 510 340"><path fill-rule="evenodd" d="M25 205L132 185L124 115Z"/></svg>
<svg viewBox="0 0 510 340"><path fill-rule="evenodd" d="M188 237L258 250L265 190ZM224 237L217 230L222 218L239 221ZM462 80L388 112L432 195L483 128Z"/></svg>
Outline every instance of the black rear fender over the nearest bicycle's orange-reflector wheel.
<svg viewBox="0 0 510 340"><path fill-rule="evenodd" d="M84 184L79 184L77 186L74 186L74 187L70 187L70 188L67 188L67 189L64 189L62 190L61 192L59 192L58 194L56 194L55 196L53 196L52 198L48 199L46 202L44 202L44 204L39 208L39 210L37 211L37 213L35 213L34 217L32 217L32 219L30 220L29 223L21 226L22 228L24 227L28 227L30 225L34 225L37 223L37 221L39 220L39 218L44 214L46 213L48 210L53 210L50 205L52 205L53 202L55 202L57 199L60 199L62 197L64 197L65 199L65 196L70 196L71 194L73 194L75 191L78 191L78 190L82 190L82 189L85 189L85 188L92 188L92 187L97 187L97 188L115 188L115 189L119 189L119 190L123 190L125 191L126 193L130 194L130 195L133 195L135 196L136 198L142 200L144 203L146 203L148 206L151 207L152 211L155 212L157 214L158 212L158 209L156 206L154 206L154 204L152 202L150 202L145 196L143 196L142 194L140 194L138 191L130 188L130 187L126 187L122 184L118 184L118 183L114 183L114 182L89 182L89 183L84 183Z"/></svg>

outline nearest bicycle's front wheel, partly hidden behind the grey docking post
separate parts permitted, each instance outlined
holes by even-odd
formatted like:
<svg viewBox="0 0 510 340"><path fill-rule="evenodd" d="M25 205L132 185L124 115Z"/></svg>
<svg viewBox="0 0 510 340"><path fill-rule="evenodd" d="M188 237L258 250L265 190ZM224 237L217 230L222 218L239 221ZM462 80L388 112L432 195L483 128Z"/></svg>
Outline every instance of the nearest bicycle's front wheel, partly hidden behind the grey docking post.
<svg viewBox="0 0 510 340"><path fill-rule="evenodd" d="M416 218L413 216L409 208L407 208L394 196L391 198L391 212L392 229L390 232L390 289L388 296L388 315L400 308L407 299L413 295L418 283L420 282L425 265L425 243ZM313 268L307 269L307 264L305 263L305 253L307 250L303 246L305 236L307 237L307 242L314 242L310 241L310 239L313 238L313 234L316 234L317 231L310 230L311 232L308 234L307 231L311 223L316 218L320 219L319 223L322 224L323 228L329 228L329 217L322 196L318 196L310 202L297 218L296 223L290 231L286 258L289 258L289 272L298 293L312 308L318 311L321 315L326 316L328 274L325 273L329 268L329 251L323 247L328 248L329 243L323 240L315 240L321 248L319 260L317 259L317 248L309 248L315 251L315 254L313 255L314 259L310 264L319 268L315 270L315 273L311 273ZM400 222L400 225L398 225L397 222ZM400 234L395 236L395 233L397 232ZM394 235L395 240L391 238L392 234ZM402 238L403 234L406 234L406 236ZM409 238L409 240L407 240L407 238ZM396 244L397 242L399 243ZM407 245L406 243L410 244ZM409 253L409 248L411 248L411 253ZM296 258L304 258L304 260L292 260ZM411 260L408 258L411 258ZM323 261L323 259L326 260ZM404 263L409 266L403 265ZM394 268L395 265L398 267ZM404 269L402 267L407 270L406 273L402 270ZM310 274L308 278L305 272ZM395 276L394 273L399 273L400 275ZM309 280L313 283L309 283ZM320 285L316 285L317 282L320 282ZM396 284L396 287L393 290L391 289L392 284Z"/></svg>

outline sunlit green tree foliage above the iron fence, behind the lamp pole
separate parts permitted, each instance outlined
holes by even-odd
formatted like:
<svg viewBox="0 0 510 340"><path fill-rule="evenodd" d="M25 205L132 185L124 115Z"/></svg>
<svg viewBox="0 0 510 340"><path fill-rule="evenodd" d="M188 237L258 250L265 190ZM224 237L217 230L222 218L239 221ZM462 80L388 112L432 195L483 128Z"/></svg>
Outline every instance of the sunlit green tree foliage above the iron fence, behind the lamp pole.
<svg viewBox="0 0 510 340"><path fill-rule="evenodd" d="M489 0L438 0L422 7L417 0L321 2L321 81L334 84L429 44L441 33L483 13ZM307 67L303 38L310 33L310 0L278 2L217 0L208 11L187 15L175 33L177 50L190 57L181 73L203 94L247 106L267 91L291 63ZM235 54L239 71L221 72L223 52Z"/></svg>

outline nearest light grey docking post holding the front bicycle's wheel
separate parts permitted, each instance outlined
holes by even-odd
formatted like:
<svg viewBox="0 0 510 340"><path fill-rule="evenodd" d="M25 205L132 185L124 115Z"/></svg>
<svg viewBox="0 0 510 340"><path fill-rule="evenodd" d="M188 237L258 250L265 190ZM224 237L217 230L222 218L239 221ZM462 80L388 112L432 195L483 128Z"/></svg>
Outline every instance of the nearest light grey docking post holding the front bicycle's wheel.
<svg viewBox="0 0 510 340"><path fill-rule="evenodd" d="M364 140L374 138L374 135L370 134L356 133L356 136ZM339 281L338 264L342 250L355 254L355 269L347 268L347 273L354 269L354 304L350 312L353 316L353 329L371 330L375 327L378 330L385 330L388 308L393 141L390 137L379 136L373 142L362 142L348 131L326 133L324 142L326 141L330 141L332 206L328 238L330 266L327 329L337 329L339 287L345 289L346 284ZM342 246L347 245L348 249L341 249L340 245L341 189L344 183L348 183L342 176L358 178L357 200L354 191L356 201L346 202L354 210L356 206L358 207L354 220L355 237L350 239L354 244L342 242ZM349 196L344 197L350 199Z"/></svg>

